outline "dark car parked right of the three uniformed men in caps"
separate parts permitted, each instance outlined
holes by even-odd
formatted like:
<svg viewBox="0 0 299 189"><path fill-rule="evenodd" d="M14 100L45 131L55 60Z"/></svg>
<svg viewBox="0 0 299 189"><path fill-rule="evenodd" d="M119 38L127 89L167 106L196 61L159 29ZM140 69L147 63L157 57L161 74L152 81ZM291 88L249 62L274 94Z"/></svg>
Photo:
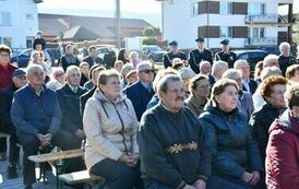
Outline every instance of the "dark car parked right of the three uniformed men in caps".
<svg viewBox="0 0 299 189"><path fill-rule="evenodd" d="M235 50L234 52L237 59L244 59L249 62L251 72L254 72L255 64L268 55L265 50Z"/></svg>

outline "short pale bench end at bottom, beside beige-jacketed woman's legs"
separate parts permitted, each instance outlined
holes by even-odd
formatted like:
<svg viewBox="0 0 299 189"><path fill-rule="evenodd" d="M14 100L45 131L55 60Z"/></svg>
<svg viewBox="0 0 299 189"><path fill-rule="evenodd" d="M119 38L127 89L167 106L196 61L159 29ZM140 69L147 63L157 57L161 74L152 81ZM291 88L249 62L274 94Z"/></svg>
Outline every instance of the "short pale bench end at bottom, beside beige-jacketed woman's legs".
<svg viewBox="0 0 299 189"><path fill-rule="evenodd" d="M86 181L99 180L101 179L101 177L89 175L88 170L81 170L81 172L59 175L59 179L69 185L74 185L74 184L81 184Z"/></svg>

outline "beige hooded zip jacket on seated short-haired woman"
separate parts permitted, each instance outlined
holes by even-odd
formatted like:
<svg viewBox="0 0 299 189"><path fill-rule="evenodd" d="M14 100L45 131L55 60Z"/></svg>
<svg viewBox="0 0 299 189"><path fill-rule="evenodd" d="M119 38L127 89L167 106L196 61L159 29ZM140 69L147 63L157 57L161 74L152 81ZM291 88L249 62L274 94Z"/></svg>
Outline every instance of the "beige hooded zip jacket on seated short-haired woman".
<svg viewBox="0 0 299 189"><path fill-rule="evenodd" d="M125 95L112 103L97 90L86 103L83 127L86 133L87 169L105 158L117 161L122 154L139 153L139 122L132 103Z"/></svg>

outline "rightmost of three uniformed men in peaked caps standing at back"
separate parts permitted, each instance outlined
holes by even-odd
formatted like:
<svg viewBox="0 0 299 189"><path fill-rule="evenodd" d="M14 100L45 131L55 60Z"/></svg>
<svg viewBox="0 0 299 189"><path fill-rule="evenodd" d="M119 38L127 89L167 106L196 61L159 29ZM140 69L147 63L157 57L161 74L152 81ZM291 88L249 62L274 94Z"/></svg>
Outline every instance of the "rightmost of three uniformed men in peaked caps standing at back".
<svg viewBox="0 0 299 189"><path fill-rule="evenodd" d="M234 63L237 60L237 55L234 51L229 50L229 40L223 39L222 51L215 54L215 60L223 60L228 63L228 68L234 68Z"/></svg>

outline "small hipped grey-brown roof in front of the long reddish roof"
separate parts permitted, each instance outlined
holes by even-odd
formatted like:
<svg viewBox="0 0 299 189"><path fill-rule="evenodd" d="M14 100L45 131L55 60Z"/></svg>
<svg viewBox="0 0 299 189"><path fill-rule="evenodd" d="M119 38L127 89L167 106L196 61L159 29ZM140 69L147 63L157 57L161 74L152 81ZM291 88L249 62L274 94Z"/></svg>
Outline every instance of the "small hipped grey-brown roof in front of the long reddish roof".
<svg viewBox="0 0 299 189"><path fill-rule="evenodd" d="M79 39L79 40L95 40L100 36L93 33L92 31L83 27L83 26L74 26L69 31L64 32L62 35L62 39Z"/></svg>

